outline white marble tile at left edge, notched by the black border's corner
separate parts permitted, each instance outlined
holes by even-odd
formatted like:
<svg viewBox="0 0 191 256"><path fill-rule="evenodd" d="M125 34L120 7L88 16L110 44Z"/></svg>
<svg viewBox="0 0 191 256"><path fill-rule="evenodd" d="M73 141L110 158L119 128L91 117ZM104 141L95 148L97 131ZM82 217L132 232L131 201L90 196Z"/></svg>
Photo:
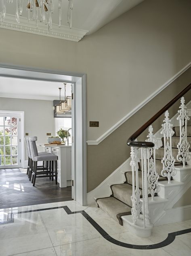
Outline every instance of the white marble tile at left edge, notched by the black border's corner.
<svg viewBox="0 0 191 256"><path fill-rule="evenodd" d="M40 212L22 213L15 222L0 225L1 256L19 254L52 246Z"/></svg>

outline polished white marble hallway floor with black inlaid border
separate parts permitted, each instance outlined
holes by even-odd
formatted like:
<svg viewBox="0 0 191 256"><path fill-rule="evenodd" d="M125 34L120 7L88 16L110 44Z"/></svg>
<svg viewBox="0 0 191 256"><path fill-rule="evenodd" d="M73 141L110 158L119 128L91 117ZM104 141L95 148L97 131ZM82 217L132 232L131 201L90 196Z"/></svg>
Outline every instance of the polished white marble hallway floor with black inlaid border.
<svg viewBox="0 0 191 256"><path fill-rule="evenodd" d="M158 249L137 250L111 243L99 233L99 226L91 223L97 223L119 243L133 245L159 243L168 233L191 228L191 220L157 226L151 237L143 239L96 206L83 207L75 201L0 209L0 256L191 255L191 233L178 235Z"/></svg>

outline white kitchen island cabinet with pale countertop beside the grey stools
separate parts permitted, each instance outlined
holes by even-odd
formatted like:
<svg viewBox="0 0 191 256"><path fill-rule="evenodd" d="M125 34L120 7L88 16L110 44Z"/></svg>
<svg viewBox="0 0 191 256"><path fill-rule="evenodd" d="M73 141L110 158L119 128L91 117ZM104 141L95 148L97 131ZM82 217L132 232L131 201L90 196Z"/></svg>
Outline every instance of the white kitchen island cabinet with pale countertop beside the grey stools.
<svg viewBox="0 0 191 256"><path fill-rule="evenodd" d="M38 144L41 151L58 156L58 182L60 188L71 186L71 146Z"/></svg>

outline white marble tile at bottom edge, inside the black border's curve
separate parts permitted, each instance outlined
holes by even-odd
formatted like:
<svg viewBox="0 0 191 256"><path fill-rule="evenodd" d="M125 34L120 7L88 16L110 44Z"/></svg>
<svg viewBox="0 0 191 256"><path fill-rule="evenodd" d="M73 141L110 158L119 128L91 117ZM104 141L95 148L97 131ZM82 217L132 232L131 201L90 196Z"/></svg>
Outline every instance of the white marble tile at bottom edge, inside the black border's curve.
<svg viewBox="0 0 191 256"><path fill-rule="evenodd" d="M110 243L104 238L96 238L55 247L59 256L170 256L162 249L136 250Z"/></svg>

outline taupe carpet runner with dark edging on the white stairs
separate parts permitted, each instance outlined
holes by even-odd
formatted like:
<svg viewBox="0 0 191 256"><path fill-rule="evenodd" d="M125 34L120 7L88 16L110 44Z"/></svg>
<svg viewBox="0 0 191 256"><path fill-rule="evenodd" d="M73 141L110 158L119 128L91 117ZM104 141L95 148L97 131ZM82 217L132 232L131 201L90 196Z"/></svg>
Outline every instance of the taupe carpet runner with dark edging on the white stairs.
<svg viewBox="0 0 191 256"><path fill-rule="evenodd" d="M180 140L180 128L179 126L174 126L174 136L172 137L172 155L174 156L175 163L174 165L182 165L182 162L178 162L176 156L178 154L177 144ZM188 141L191 141L191 120L187 123L187 136ZM164 138L162 138L162 147L156 150L156 171L161 175L162 171L162 158L164 157ZM140 166L139 166L140 167ZM140 168L139 168L140 169ZM139 188L142 190L142 172L139 170ZM126 181L122 184L113 184L111 188L111 196L97 198L97 206L105 211L108 215L111 216L114 220L123 225L121 217L124 215L131 214L132 208L132 172L127 171L124 173ZM166 178L160 176L158 181L164 181ZM149 195L151 196L151 195ZM157 195L156 195L157 196Z"/></svg>

